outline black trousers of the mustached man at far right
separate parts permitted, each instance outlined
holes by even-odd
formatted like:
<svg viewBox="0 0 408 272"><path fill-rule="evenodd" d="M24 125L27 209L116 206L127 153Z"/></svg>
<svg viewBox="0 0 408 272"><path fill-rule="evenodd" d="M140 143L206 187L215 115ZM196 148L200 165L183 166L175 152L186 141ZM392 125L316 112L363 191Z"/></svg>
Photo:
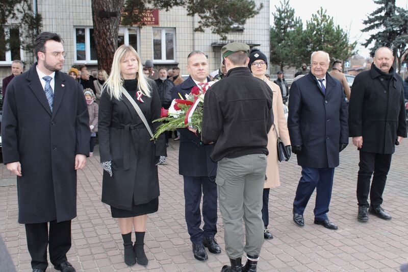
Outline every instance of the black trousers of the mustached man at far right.
<svg viewBox="0 0 408 272"><path fill-rule="evenodd" d="M357 177L357 200L359 206L368 206L368 193L373 206L382 204L382 192L386 186L392 154L360 151L359 175ZM374 175L373 175L374 172ZM370 190L370 180L373 176Z"/></svg>

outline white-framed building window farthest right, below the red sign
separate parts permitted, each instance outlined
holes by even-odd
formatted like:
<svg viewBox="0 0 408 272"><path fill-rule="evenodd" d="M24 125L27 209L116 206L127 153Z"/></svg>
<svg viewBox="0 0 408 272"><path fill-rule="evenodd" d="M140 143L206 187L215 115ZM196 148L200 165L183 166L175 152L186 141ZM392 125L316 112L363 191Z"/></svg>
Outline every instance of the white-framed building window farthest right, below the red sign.
<svg viewBox="0 0 408 272"><path fill-rule="evenodd" d="M175 61L175 29L153 28L153 60L156 63Z"/></svg>

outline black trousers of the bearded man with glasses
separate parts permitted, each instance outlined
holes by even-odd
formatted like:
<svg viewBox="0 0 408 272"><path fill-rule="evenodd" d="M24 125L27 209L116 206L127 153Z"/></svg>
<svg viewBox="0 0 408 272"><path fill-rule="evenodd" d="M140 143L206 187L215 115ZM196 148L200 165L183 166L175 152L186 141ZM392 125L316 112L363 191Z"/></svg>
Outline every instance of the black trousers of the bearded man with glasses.
<svg viewBox="0 0 408 272"><path fill-rule="evenodd" d="M27 246L31 255L31 267L45 270L47 262L47 245L49 259L54 265L67 260L66 253L71 248L71 220L38 224L25 224Z"/></svg>

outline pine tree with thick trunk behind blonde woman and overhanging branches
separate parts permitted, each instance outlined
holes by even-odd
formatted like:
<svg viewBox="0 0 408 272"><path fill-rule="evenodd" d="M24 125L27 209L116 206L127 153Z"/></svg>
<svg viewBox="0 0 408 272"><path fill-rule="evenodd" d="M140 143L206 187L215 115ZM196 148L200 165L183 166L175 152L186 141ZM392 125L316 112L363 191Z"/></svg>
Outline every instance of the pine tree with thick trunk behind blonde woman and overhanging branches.
<svg viewBox="0 0 408 272"><path fill-rule="evenodd" d="M111 69L117 48L120 17L123 26L131 26L139 24L147 8L169 10L183 6L189 16L199 17L195 31L203 32L205 28L210 28L221 39L226 39L226 33L235 25L244 24L246 19L257 15L263 8L262 3L257 8L253 0L92 0L91 3L98 68L107 72Z"/></svg>

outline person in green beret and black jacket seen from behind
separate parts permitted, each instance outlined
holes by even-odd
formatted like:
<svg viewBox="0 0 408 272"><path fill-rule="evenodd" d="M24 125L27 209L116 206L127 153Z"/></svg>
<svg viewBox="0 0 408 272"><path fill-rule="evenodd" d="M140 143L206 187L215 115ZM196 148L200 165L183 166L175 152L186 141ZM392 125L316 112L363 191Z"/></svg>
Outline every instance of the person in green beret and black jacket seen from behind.
<svg viewBox="0 0 408 272"><path fill-rule="evenodd" d="M272 90L248 69L249 46L232 42L221 48L226 76L205 96L202 141L214 142L217 192L224 222L225 251L231 266L222 272L256 271L264 242L262 194L268 132L272 127ZM246 244L242 244L242 218ZM241 257L247 254L242 267Z"/></svg>

